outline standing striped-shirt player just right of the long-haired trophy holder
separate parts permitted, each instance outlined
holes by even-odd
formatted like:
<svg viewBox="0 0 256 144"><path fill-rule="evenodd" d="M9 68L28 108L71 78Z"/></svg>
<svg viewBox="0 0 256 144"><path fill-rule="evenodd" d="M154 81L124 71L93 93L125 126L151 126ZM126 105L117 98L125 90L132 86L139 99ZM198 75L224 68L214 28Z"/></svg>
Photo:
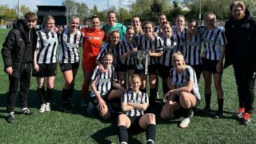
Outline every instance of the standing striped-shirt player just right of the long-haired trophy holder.
<svg viewBox="0 0 256 144"><path fill-rule="evenodd" d="M162 92L167 93L169 91L167 77L169 77L169 70L172 68L172 54L179 51L181 37L172 32L169 22L162 23L162 34L163 53L160 58L159 75L162 78Z"/></svg>

